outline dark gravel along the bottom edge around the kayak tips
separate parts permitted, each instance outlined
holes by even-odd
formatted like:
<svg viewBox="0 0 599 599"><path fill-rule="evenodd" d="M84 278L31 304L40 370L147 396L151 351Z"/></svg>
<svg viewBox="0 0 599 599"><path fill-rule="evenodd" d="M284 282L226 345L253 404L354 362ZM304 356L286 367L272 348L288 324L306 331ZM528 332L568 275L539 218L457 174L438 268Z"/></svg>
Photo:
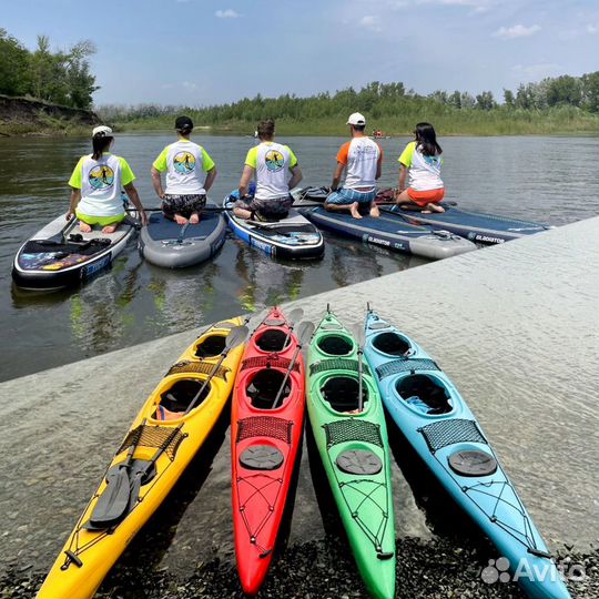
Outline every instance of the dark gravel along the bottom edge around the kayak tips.
<svg viewBox="0 0 599 599"><path fill-rule="evenodd" d="M410 599L524 599L514 582L486 583L481 570L496 554L490 546L461 547L455 540L434 538L397 541L397 597ZM140 556L141 557L141 556ZM572 599L599 597L599 550L581 555L565 549L559 560L569 570L580 565L586 576L570 581ZM97 593L97 599L242 599L235 568L217 555L197 564L187 577L165 567L148 571L145 560L118 565ZM0 577L0 599L29 599L43 579L27 565ZM274 560L260 599L354 599L367 593L346 541L324 540L288 547Z"/></svg>

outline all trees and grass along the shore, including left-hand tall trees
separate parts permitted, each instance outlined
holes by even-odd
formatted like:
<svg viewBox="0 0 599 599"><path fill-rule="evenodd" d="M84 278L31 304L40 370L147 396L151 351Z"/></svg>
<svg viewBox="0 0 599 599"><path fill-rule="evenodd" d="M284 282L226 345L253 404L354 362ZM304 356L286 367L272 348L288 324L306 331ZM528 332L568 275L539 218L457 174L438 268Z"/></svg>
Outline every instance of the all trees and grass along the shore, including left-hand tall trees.
<svg viewBox="0 0 599 599"><path fill-rule="evenodd" d="M68 50L50 50L50 40L38 37L28 50L0 29L0 94L23 97L78 109L93 108L99 89L88 58L93 43L81 41ZM118 130L172 129L174 118L186 113L196 126L213 132L252 134L263 119L275 119L280 134L334 135L346 132L347 115L363 112L368 129L388 135L409 134L416 122L430 121L443 135L501 135L599 132L599 71L581 77L546 78L504 89L496 99L490 91L435 91L423 95L402 82L374 81L359 90L346 88L307 98L244 98L237 102L203 108L182 105L173 95L170 105L122 104L95 106L100 119ZM1 123L0 123L1 124ZM52 126L52 125L50 125ZM58 129L68 129L64 121Z"/></svg>

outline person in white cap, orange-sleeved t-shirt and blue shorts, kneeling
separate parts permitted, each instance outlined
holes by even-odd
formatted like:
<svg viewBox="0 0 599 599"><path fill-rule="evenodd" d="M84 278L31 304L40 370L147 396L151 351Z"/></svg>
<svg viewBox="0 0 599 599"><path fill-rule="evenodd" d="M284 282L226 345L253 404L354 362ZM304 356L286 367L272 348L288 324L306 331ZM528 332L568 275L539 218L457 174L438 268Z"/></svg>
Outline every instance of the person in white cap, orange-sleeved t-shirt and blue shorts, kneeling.
<svg viewBox="0 0 599 599"><path fill-rule="evenodd" d="M344 143L337 154L337 167L333 175L331 193L325 201L325 210L348 211L354 219L362 219L361 207L368 207L370 216L379 216L375 204L376 180L383 172L383 150L378 143L364 134L366 119L354 112L347 120L352 141ZM345 172L345 183L339 181Z"/></svg>

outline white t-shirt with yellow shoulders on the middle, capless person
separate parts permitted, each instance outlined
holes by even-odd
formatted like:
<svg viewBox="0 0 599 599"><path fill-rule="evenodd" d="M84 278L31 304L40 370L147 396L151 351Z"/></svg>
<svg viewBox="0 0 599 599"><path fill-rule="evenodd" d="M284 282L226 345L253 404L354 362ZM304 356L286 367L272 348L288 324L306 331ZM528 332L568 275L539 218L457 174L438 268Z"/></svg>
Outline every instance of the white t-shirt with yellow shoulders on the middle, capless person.
<svg viewBox="0 0 599 599"><path fill-rule="evenodd" d="M256 171L256 200L288 195L291 169L297 164L297 159L287 145L262 142L247 152L245 164Z"/></svg>

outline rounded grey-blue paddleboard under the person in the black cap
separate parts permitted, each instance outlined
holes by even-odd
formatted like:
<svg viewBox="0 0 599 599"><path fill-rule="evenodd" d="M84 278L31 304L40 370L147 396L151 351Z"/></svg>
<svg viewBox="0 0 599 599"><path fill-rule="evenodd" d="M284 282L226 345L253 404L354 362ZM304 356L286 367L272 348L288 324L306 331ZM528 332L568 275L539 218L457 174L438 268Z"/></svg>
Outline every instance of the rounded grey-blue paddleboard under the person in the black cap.
<svg viewBox="0 0 599 599"><path fill-rule="evenodd" d="M202 213L197 224L179 225L156 212L140 232L140 252L156 266L182 268L212 257L226 235L226 220L221 213Z"/></svg>

